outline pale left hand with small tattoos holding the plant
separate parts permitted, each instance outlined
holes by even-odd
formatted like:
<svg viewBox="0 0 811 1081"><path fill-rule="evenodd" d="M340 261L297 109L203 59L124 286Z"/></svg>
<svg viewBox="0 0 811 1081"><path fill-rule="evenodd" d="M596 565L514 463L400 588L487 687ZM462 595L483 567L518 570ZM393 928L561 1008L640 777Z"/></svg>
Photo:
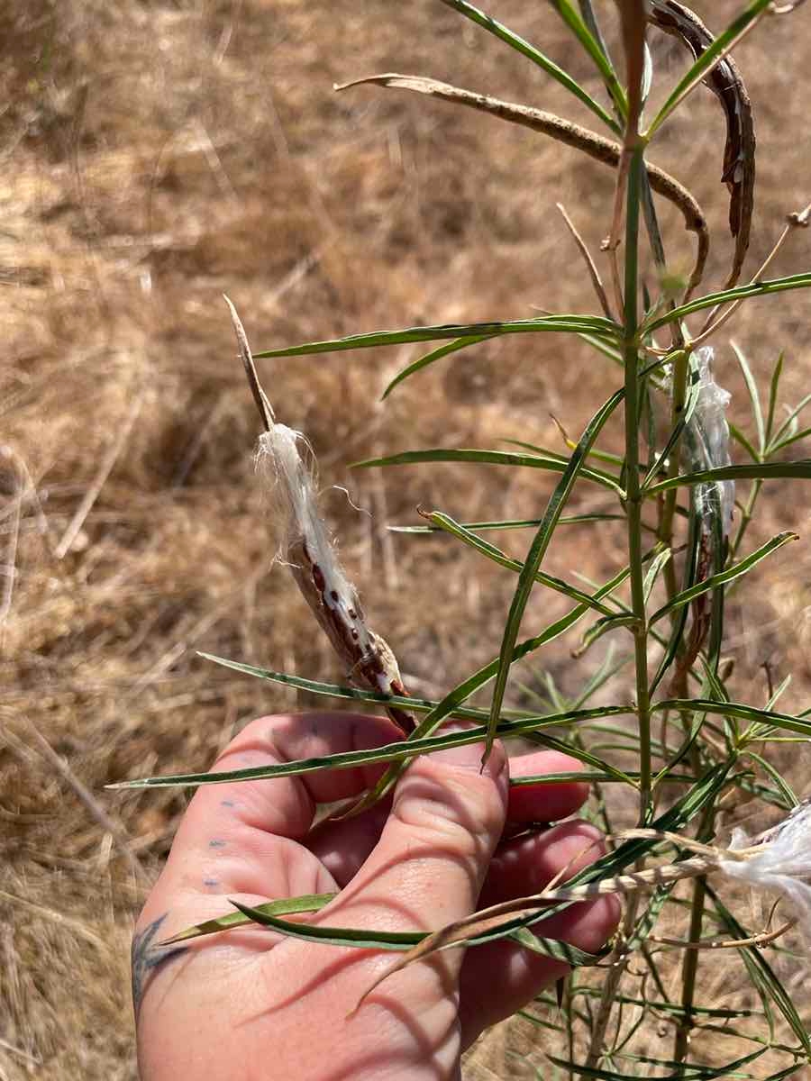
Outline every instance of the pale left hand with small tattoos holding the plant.
<svg viewBox="0 0 811 1081"><path fill-rule="evenodd" d="M226 748L217 770L381 746L391 721L348 713L265 717ZM508 775L577 769L557 751L507 762L496 744L417 759L394 799L310 831L317 803L355 796L382 768L210 785L195 795L135 929L133 988L143 1081L444 1081L488 1026L564 975L558 961L507 942L416 961L358 1000L399 955L281 937L267 929L161 948L191 924L279 897L340 891L315 919L385 931L436 930L477 907L542 890L600 854L574 814L580 783L509 788ZM535 924L594 951L613 933L613 896Z"/></svg>

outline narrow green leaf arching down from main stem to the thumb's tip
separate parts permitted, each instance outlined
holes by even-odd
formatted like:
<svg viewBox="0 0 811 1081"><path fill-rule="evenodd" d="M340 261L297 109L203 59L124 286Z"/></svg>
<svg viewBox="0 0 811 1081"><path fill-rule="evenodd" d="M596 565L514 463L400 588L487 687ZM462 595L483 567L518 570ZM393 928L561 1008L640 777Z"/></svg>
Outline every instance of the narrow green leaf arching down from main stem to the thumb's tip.
<svg viewBox="0 0 811 1081"><path fill-rule="evenodd" d="M532 545L530 546L530 550L527 553L523 570L518 576L518 586L516 587L516 591L513 596L513 603L510 604L507 624L504 630L504 638L502 639L502 648L498 659L498 675L495 679L495 688L493 689L493 700L490 711L490 731L488 732L486 756L489 755L495 736L495 726L498 721L498 715L501 713L504 692L507 689L509 668L513 664L513 652L515 650L518 630L527 608L527 602L530 599L530 592L532 591L532 586L534 584L534 576L541 568L541 561L549 547L549 543L555 532L555 526L563 512L563 507L571 495L574 482L576 481L580 472L583 470L586 455L602 430L603 425L624 397L625 391L617 390L603 405L600 406L594 417L589 421L583 436L580 439L580 442L577 443L577 446L574 451L572 451L572 456L569 459L569 465L566 467L563 476L558 481L558 484L549 498L543 524L535 534Z"/></svg>

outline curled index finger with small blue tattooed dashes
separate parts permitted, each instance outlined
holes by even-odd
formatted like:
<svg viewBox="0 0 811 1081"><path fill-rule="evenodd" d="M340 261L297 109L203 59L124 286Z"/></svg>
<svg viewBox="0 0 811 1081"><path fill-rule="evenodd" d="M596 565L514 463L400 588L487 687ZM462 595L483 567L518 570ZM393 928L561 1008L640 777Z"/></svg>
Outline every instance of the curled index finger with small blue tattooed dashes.
<svg viewBox="0 0 811 1081"><path fill-rule="evenodd" d="M355 713L264 717L249 724L215 772L318 758L397 743L391 721ZM207 785L181 823L150 903L165 911L183 896L295 896L334 889L303 845L317 803L357 796L384 766L321 770L254 782ZM157 896L156 896L157 895Z"/></svg>

